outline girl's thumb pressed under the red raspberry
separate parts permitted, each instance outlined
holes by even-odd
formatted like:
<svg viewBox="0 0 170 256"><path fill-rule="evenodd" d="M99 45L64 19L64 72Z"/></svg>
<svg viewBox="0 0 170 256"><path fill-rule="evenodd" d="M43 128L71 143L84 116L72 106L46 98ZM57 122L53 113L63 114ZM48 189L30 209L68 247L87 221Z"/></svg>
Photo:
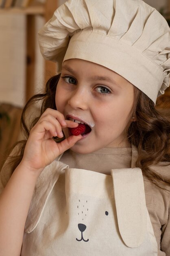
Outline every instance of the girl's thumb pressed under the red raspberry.
<svg viewBox="0 0 170 256"><path fill-rule="evenodd" d="M59 149L59 155L61 155L63 152L74 146L74 144L82 138L82 135L71 135L70 137L64 139L60 143L57 144Z"/></svg>

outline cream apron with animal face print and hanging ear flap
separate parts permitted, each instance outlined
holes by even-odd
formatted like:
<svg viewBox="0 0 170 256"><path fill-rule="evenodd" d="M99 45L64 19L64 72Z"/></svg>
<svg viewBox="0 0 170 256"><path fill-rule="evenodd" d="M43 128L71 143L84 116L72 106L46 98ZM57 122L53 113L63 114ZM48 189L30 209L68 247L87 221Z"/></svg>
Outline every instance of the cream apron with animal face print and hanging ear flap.
<svg viewBox="0 0 170 256"><path fill-rule="evenodd" d="M157 256L139 168L111 175L56 160L39 176L21 256Z"/></svg>

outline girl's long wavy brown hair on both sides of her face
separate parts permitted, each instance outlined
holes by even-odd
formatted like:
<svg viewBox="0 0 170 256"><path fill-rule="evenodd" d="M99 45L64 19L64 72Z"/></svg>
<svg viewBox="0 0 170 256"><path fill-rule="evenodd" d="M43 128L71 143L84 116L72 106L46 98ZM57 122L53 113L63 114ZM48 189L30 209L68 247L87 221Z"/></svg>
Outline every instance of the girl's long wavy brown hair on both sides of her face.
<svg viewBox="0 0 170 256"><path fill-rule="evenodd" d="M9 158L8 169L11 167L9 177L22 160L31 128L47 108L56 110L55 92L60 75L53 76L48 80L45 93L34 95L26 103L21 117L21 127L26 139L14 145L18 146L18 150L14 156ZM143 175L157 186L170 185L170 179L162 177L150 168L151 165L162 161L170 162L170 122L166 117L163 117L164 112L161 113L161 109L156 109L153 101L136 87L134 87L134 94L135 101L131 116L135 117L135 121L129 122L126 133L131 144L135 145L138 150L136 167L141 168ZM39 114L33 119L31 124L26 124L26 110L29 106L39 101L41 101ZM65 138L57 139L56 142L63 139ZM5 181L5 178L3 178L7 176L5 173L6 169L3 168L3 173L1 174L4 186L7 183L7 179Z"/></svg>

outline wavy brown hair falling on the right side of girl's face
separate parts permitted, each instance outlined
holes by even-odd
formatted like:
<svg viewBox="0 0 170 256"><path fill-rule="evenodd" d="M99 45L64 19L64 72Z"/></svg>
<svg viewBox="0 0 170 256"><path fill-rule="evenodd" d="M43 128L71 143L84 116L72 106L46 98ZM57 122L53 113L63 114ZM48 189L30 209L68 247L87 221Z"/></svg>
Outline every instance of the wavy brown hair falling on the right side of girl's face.
<svg viewBox="0 0 170 256"><path fill-rule="evenodd" d="M170 185L170 175L163 177L153 171L152 166L160 162L170 162L170 106L167 105L165 110L161 101L162 98L166 101L168 96L159 97L155 106L153 101L137 88L135 95L133 116L136 121L131 122L127 136L138 151L136 167L142 169L148 180L163 188Z"/></svg>

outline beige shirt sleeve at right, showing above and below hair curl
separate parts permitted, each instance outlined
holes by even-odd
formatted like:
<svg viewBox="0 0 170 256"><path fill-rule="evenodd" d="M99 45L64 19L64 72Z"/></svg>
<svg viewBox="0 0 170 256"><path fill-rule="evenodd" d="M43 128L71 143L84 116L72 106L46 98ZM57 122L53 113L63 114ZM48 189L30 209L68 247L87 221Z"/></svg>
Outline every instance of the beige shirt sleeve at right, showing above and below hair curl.
<svg viewBox="0 0 170 256"><path fill-rule="evenodd" d="M161 162L153 166L153 170L168 180L170 179L169 162ZM150 194L150 200L148 202L146 200L146 202L148 203L147 208L150 212L159 254L170 256L170 186L166 185L161 189L150 182L146 182L146 191L147 194Z"/></svg>

